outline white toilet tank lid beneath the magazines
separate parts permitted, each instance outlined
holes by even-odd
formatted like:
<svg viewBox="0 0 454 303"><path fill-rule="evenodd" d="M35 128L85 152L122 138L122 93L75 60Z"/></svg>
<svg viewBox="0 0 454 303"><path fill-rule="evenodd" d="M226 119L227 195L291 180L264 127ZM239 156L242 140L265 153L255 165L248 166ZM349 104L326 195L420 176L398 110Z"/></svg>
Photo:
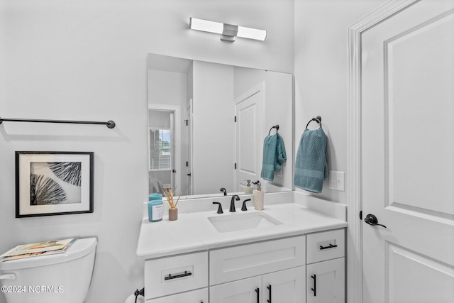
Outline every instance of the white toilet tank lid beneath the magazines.
<svg viewBox="0 0 454 303"><path fill-rule="evenodd" d="M68 262L82 258L88 255L96 247L96 238L77 239L65 253L56 253L55 255L38 255L31 258L23 258L18 260L0 261L0 270L20 270L23 268L37 268L57 263Z"/></svg>

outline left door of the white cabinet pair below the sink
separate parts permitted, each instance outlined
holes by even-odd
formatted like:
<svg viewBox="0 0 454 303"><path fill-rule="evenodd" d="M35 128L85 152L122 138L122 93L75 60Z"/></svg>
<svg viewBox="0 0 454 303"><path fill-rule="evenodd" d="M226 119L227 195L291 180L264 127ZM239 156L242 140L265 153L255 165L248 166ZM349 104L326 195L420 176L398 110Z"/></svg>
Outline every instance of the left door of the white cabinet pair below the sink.
<svg viewBox="0 0 454 303"><path fill-rule="evenodd" d="M210 302L214 303L260 303L262 277L228 282L210 287Z"/></svg>

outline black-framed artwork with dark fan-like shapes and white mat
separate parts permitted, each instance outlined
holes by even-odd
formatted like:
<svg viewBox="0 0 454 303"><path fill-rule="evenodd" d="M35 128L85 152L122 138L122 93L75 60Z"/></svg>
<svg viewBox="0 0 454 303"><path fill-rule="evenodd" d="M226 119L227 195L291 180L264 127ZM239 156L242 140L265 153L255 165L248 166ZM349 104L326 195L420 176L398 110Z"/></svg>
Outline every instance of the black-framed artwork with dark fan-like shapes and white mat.
<svg viewBox="0 0 454 303"><path fill-rule="evenodd" d="M16 151L16 218L93 212L92 152Z"/></svg>

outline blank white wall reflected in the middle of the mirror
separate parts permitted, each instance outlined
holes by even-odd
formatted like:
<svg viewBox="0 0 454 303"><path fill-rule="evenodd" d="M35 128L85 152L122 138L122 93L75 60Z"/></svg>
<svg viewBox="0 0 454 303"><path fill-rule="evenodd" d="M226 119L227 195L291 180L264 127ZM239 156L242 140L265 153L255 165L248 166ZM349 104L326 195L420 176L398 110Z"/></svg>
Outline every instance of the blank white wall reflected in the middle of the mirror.
<svg viewBox="0 0 454 303"><path fill-rule="evenodd" d="M234 192L233 67L202 61L192 65L194 194L219 192L221 187Z"/></svg>

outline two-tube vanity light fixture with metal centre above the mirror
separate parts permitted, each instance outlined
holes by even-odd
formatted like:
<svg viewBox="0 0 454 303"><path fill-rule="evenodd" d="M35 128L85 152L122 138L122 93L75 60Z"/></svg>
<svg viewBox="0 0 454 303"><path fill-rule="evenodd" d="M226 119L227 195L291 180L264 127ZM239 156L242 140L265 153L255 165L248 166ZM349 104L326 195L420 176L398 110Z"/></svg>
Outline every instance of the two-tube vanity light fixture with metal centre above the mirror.
<svg viewBox="0 0 454 303"><path fill-rule="evenodd" d="M189 28L195 31L206 31L209 33L218 33L221 40L233 42L235 37L248 38L265 41L267 31L255 28L246 28L244 26L235 26L233 24L207 21L197 18L189 18Z"/></svg>

